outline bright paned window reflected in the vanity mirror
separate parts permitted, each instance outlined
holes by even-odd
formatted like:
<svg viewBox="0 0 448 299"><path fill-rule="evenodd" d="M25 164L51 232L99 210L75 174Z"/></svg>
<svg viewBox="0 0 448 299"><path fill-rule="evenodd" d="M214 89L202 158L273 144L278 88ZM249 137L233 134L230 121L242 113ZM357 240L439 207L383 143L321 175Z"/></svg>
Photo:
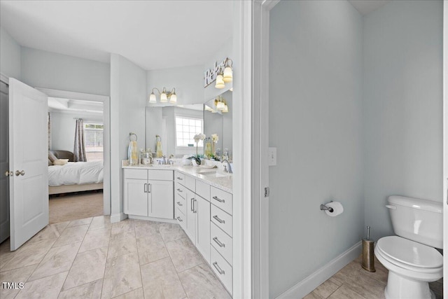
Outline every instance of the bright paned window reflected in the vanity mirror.
<svg viewBox="0 0 448 299"><path fill-rule="evenodd" d="M196 146L195 134L202 132L201 118L176 116L176 146ZM200 140L197 146L203 146Z"/></svg>

